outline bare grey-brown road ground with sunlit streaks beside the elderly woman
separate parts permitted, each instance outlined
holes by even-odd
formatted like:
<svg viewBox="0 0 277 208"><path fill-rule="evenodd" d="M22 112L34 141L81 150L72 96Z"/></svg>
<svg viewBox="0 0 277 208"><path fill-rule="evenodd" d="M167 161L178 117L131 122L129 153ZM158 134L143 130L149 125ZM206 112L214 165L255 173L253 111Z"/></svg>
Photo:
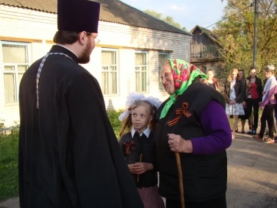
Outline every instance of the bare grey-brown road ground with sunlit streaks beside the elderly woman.
<svg viewBox="0 0 277 208"><path fill-rule="evenodd" d="M238 133L227 154L227 207L277 208L277 144ZM19 200L1 202L0 208L19 208Z"/></svg>

